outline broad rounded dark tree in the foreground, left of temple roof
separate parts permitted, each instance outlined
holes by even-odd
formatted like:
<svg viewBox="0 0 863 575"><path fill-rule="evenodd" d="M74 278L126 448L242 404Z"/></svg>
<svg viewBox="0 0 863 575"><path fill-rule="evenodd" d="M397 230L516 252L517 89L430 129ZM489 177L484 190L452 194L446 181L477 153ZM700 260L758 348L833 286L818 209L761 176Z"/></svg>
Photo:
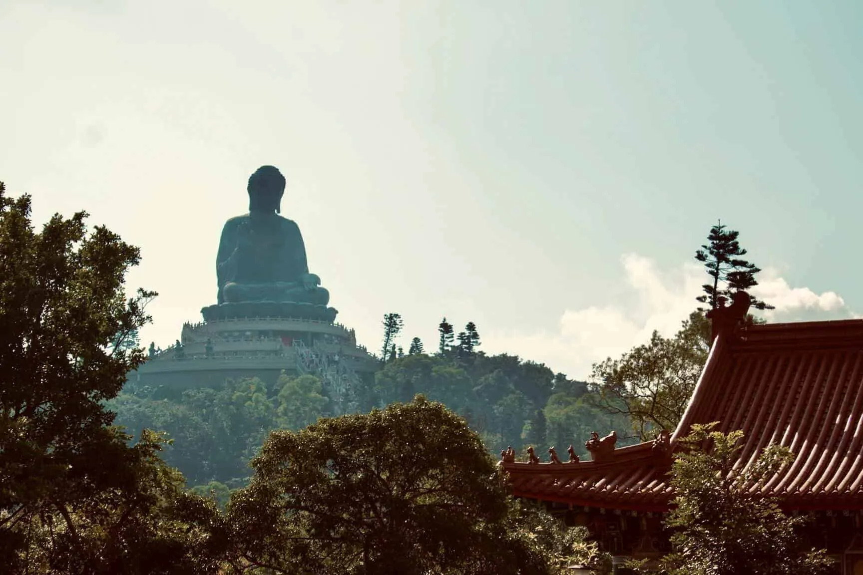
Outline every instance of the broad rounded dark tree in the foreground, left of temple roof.
<svg viewBox="0 0 863 575"><path fill-rule="evenodd" d="M417 356L414 356L417 357ZM507 530L501 472L424 397L276 431L228 506L233 549L274 573L546 573Z"/></svg>

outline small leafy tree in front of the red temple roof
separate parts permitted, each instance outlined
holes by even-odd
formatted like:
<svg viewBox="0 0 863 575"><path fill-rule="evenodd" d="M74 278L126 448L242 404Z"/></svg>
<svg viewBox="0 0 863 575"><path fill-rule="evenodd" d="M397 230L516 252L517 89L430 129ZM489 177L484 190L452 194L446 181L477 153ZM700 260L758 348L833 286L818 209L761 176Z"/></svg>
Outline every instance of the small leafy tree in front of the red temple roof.
<svg viewBox="0 0 863 575"><path fill-rule="evenodd" d="M715 423L694 425L671 468L673 507L665 525L677 550L661 566L669 575L815 575L829 572L824 551L806 548L795 530L802 516L785 516L759 490L793 453L766 447L740 466L742 432L722 434ZM708 445L709 450L702 449Z"/></svg>

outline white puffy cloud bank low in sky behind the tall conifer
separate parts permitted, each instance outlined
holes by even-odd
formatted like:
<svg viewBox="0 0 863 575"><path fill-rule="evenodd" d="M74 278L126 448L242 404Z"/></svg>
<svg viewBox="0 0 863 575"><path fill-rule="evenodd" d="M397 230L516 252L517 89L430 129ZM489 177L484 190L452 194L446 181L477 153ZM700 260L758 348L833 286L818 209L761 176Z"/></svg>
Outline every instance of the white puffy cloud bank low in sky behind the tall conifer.
<svg viewBox="0 0 863 575"><path fill-rule="evenodd" d="M646 342L654 330L666 337L677 333L681 322L696 308L696 295L702 292L701 266L687 262L664 272L654 260L634 253L623 255L620 264L626 297L604 305L565 309L556 331L489 331L483 339L485 350L517 353L571 378L586 379L595 362L619 356ZM775 270L765 270L761 275L753 295L776 306L764 312L769 322L856 316L834 291L818 294L806 287L792 288Z"/></svg>

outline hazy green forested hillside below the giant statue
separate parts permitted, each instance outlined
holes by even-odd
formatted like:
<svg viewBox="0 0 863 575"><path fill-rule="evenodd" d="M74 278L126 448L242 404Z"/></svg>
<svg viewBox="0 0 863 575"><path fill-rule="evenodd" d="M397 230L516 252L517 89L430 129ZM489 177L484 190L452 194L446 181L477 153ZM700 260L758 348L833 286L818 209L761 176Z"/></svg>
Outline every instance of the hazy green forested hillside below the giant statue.
<svg viewBox="0 0 863 575"><path fill-rule="evenodd" d="M624 436L632 427L626 416L595 408L598 397L586 383L514 355L452 347L434 355L394 356L381 362L366 385L361 411L423 394L463 416L493 454L508 446L522 451L533 445L543 453L570 444L586 454L584 441L591 431L615 429ZM133 436L144 428L166 431L173 440L164 453L167 463L180 469L190 485L217 482L211 484L217 492L222 490L218 484L245 483L249 459L271 430L304 428L320 416L343 415L332 409L318 378L287 374L270 387L257 378L182 392L127 386L109 409Z"/></svg>

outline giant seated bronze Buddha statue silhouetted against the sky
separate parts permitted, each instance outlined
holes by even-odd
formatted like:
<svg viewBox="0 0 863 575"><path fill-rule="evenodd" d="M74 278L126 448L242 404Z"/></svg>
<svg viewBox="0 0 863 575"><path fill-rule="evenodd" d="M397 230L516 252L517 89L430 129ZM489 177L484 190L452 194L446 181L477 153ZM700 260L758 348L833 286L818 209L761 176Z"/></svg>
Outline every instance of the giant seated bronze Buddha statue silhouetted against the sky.
<svg viewBox="0 0 863 575"><path fill-rule="evenodd" d="M273 166L249 177L249 213L225 222L219 240L218 303L330 301L320 278L309 273L299 227L280 216L285 184Z"/></svg>

